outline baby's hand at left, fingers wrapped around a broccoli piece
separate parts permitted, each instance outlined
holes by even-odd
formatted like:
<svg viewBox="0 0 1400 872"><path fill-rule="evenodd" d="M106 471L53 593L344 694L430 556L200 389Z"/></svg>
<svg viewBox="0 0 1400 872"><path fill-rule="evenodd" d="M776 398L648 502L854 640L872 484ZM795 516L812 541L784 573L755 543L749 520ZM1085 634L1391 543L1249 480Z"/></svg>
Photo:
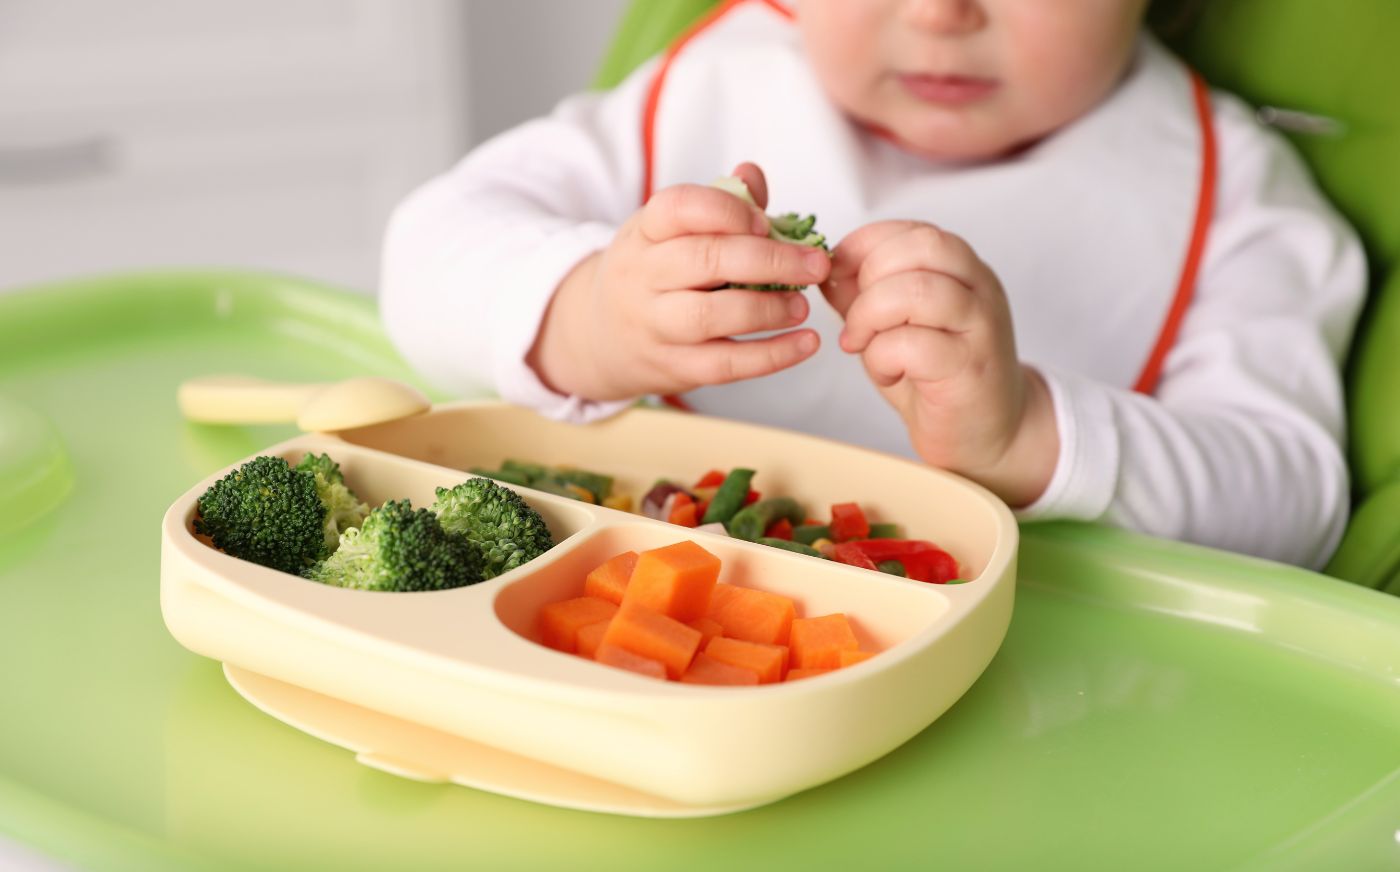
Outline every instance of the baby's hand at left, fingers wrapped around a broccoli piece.
<svg viewBox="0 0 1400 872"><path fill-rule="evenodd" d="M657 192L560 284L529 354L553 389L594 400L680 393L756 378L812 356L813 330L734 340L802 323L795 291L724 290L725 283L816 284L825 252L767 238L763 174L742 164L759 207L717 188Z"/></svg>

